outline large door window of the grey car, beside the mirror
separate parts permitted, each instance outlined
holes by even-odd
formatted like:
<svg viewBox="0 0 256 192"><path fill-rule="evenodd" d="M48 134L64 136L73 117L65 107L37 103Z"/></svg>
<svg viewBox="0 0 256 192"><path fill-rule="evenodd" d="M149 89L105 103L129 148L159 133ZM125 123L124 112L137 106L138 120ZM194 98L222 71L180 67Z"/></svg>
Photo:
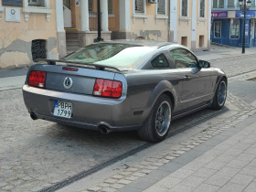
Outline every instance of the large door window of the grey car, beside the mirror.
<svg viewBox="0 0 256 192"><path fill-rule="evenodd" d="M196 57L187 49L172 49L170 55L175 61L176 68L195 68L197 66Z"/></svg>

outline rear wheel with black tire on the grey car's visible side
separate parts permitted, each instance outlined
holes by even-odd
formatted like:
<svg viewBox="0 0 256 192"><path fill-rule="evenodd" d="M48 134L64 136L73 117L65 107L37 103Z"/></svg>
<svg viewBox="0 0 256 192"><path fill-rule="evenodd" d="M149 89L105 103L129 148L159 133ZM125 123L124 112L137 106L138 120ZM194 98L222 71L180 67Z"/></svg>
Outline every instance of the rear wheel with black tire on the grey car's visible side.
<svg viewBox="0 0 256 192"><path fill-rule="evenodd" d="M141 139L149 142L161 142L170 130L172 120L172 101L162 94L155 102L144 126L137 131Z"/></svg>

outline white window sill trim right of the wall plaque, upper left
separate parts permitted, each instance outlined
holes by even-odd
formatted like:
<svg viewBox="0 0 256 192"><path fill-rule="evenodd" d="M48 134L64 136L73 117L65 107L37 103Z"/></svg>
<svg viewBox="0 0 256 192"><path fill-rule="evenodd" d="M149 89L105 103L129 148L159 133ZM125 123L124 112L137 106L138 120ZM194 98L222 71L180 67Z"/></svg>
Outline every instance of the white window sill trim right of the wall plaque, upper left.
<svg viewBox="0 0 256 192"><path fill-rule="evenodd" d="M44 0L44 1L45 1L44 7L35 7L35 6L28 6L27 0L24 0L23 12L24 12L26 21L28 21L29 14L44 14L47 16L47 21L49 21L50 14L51 14L51 10L49 8L49 0Z"/></svg>

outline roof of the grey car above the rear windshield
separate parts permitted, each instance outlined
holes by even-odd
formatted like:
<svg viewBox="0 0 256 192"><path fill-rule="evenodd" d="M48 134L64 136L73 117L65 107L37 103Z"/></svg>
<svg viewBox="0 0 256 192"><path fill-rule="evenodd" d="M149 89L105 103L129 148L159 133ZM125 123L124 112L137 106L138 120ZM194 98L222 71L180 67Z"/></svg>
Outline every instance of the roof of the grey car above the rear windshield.
<svg viewBox="0 0 256 192"><path fill-rule="evenodd" d="M165 46L172 46L172 47L179 47L179 48L183 47L178 44L174 44L174 43L170 43L170 42L144 40L144 39L117 39L117 40L101 41L99 43L116 43L116 44L127 44L127 45L155 47L155 48L162 48Z"/></svg>

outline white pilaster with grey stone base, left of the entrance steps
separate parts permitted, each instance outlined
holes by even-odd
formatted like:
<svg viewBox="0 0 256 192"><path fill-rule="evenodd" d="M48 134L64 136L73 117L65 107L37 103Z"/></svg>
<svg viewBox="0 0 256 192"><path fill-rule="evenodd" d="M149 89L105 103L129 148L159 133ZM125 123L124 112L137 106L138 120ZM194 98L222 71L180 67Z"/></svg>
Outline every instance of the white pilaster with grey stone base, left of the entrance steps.
<svg viewBox="0 0 256 192"><path fill-rule="evenodd" d="M59 57L57 58L63 58L64 56L67 55L66 31L64 30L63 1L55 0L55 4L56 4L56 27L57 27L58 51L59 51Z"/></svg>

